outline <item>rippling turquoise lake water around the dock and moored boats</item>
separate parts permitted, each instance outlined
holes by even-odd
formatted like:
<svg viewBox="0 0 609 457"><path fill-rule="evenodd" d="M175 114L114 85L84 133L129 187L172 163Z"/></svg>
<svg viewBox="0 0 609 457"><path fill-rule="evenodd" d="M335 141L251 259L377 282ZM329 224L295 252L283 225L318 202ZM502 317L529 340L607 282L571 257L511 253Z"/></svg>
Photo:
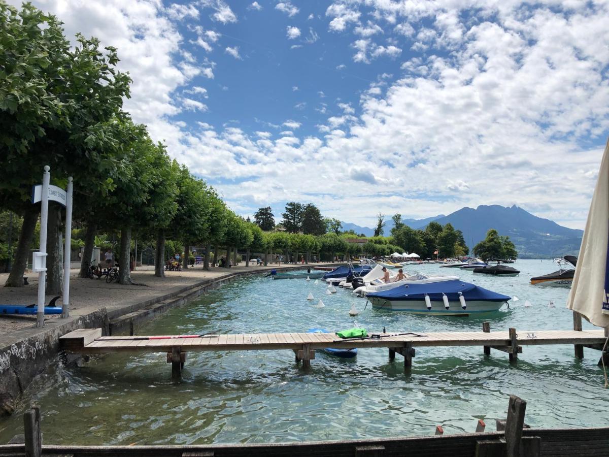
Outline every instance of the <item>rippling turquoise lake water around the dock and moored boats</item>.
<svg viewBox="0 0 609 457"><path fill-rule="evenodd" d="M532 286L529 278L557 270L550 260L519 260L518 277L408 266L406 271L459 275L462 280L518 297L510 309L484 317L415 316L373 310L365 299L325 284L256 276L211 291L164 314L141 335L336 331L571 329L566 288ZM313 302L306 297L315 296ZM322 298L325 308L313 308ZM532 306L525 307L528 300ZM549 307L553 302L555 307ZM359 316L348 311L355 303ZM585 328L593 328L584 322ZM0 422L0 442L23 433L21 414L31 402L43 413L47 444L208 444L431 435L474 431L477 419L505 419L510 394L527 401L533 427L598 427L609 422L609 400L599 352L572 345L524 347L518 364L482 347L418 348L409 373L387 349L359 350L353 360L317 353L310 370L290 350L189 353L183 381L171 382L164 354L112 355L81 367L56 367L26 391L18 411Z"/></svg>

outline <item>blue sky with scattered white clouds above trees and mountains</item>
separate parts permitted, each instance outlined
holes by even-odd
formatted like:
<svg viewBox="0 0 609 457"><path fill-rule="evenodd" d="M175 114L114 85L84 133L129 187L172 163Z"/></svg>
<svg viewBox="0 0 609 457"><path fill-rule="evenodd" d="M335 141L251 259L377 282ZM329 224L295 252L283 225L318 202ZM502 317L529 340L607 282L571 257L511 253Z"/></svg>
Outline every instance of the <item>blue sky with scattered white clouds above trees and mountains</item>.
<svg viewBox="0 0 609 457"><path fill-rule="evenodd" d="M295 200L371 225L516 204L585 225L608 133L607 2L34 4L118 48L133 119L239 214Z"/></svg>

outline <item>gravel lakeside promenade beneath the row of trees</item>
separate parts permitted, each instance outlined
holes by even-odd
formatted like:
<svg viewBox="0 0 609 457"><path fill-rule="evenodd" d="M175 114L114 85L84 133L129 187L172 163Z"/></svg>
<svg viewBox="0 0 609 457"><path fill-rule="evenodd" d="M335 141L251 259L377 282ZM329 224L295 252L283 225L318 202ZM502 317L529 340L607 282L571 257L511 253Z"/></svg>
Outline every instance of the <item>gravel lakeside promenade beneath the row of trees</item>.
<svg viewBox="0 0 609 457"><path fill-rule="evenodd" d="M132 280L137 285L120 285L118 283L107 284L104 279L79 278L78 270L71 270L70 277L70 318L84 316L100 308L106 308L108 312L118 311L121 308L129 308L146 300L164 296L188 286L195 285L205 280L214 280L218 277L239 272L269 271L278 268L277 264L269 266L256 266L245 263L232 268L213 267L211 271L204 271L202 264L189 269L178 271L166 271L166 277L158 278L154 275L152 267L138 267L138 271L132 272ZM322 264L309 264L317 266ZM294 267L294 264L281 264L281 267ZM307 265L303 265L307 267ZM38 275L32 272L26 273L29 285L19 288L2 287L8 277L7 273L0 274L0 303L30 305L37 301ZM53 296L46 296L46 303ZM61 305L61 299L57 300ZM127 311L125 311L127 312ZM47 316L46 327L55 327L68 322L69 319L61 319L59 316ZM44 329L36 328L36 316L1 316L0 315L0 348L13 344L20 339L36 335Z"/></svg>

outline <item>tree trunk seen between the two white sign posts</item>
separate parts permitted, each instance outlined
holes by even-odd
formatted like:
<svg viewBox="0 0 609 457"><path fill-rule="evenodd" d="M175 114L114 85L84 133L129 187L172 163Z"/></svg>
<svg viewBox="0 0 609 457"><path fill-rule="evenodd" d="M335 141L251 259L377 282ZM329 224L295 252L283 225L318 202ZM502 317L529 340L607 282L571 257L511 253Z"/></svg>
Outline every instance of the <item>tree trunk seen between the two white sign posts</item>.
<svg viewBox="0 0 609 457"><path fill-rule="evenodd" d="M49 295L63 294L62 226L62 208L59 204L50 204L46 230L46 293Z"/></svg>

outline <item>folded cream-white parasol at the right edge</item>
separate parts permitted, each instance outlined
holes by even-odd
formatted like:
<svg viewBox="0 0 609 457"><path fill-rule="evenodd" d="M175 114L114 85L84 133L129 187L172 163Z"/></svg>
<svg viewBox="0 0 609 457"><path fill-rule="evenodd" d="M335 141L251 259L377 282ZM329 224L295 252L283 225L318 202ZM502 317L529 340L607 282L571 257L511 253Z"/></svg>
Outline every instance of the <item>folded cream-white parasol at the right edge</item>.
<svg viewBox="0 0 609 457"><path fill-rule="evenodd" d="M609 326L609 141L600 162L567 308L597 327Z"/></svg>

